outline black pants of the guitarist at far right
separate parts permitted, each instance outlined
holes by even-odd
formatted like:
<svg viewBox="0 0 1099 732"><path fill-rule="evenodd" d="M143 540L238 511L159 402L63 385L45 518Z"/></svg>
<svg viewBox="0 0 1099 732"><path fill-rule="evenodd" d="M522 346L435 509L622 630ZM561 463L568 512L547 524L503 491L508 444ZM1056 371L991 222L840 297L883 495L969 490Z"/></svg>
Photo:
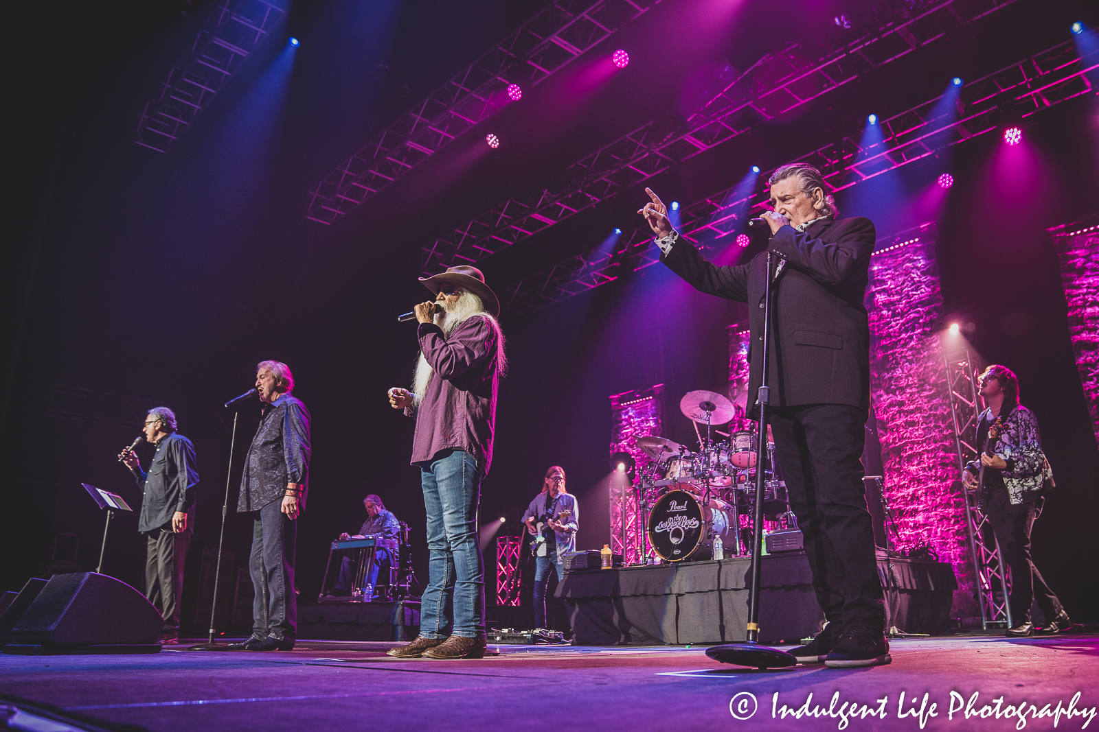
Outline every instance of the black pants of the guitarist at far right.
<svg viewBox="0 0 1099 732"><path fill-rule="evenodd" d="M1031 530L1042 513L1043 503L1044 499L1039 498L1034 503L1012 506L1007 488L993 491L988 499L986 515L1000 543L1003 563L1011 570L1008 604L1011 606L1011 621L1015 626L1030 622L1031 605L1035 599L1046 620L1053 620L1064 609L1030 555Z"/></svg>

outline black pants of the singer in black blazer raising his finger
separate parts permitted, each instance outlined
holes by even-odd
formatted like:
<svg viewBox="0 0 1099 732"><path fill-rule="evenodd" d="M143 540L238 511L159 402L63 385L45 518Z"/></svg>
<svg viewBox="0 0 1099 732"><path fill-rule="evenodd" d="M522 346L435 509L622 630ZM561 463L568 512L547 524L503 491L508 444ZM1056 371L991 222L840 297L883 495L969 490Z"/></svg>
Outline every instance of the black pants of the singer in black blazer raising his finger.
<svg viewBox="0 0 1099 732"><path fill-rule="evenodd" d="M866 410L844 404L777 407L769 421L824 617L844 629L884 631L861 462Z"/></svg>

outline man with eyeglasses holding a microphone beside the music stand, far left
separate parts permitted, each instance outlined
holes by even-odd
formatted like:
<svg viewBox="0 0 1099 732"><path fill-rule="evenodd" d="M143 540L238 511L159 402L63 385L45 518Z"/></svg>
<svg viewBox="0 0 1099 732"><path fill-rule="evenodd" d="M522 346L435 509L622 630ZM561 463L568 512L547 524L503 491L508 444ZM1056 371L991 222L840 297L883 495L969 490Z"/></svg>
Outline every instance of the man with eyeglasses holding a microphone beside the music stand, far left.
<svg viewBox="0 0 1099 732"><path fill-rule="evenodd" d="M142 488L137 530L146 537L145 597L160 611L160 643L179 641L184 564L195 530L195 489L199 482L195 446L176 432L176 415L168 407L153 407L145 415L144 438L156 446L148 472L130 448L119 460Z"/></svg>

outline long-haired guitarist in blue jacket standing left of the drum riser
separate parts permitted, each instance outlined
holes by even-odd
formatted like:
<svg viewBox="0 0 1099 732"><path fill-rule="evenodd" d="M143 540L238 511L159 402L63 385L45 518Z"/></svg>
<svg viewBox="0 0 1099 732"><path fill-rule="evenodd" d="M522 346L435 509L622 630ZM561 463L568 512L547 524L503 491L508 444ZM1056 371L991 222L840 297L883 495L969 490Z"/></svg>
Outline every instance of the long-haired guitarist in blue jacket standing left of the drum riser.
<svg viewBox="0 0 1099 732"><path fill-rule="evenodd" d="M576 496L565 492L565 469L553 465L542 482L542 493L534 497L523 514L526 530L534 540L534 624L546 627L546 587L550 567L557 570L557 581L565 577L562 558L576 551L579 507ZM539 539L544 539L540 541Z"/></svg>

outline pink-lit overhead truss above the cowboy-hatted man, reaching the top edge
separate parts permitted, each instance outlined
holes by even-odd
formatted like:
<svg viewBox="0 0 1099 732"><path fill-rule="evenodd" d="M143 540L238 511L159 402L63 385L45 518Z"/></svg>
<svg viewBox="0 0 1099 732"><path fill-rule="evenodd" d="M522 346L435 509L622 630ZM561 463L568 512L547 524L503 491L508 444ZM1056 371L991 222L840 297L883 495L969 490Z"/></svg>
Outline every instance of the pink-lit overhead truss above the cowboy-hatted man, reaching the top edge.
<svg viewBox="0 0 1099 732"><path fill-rule="evenodd" d="M590 50L660 0L557 0L384 129L309 192L307 216L334 224L375 193Z"/></svg>

